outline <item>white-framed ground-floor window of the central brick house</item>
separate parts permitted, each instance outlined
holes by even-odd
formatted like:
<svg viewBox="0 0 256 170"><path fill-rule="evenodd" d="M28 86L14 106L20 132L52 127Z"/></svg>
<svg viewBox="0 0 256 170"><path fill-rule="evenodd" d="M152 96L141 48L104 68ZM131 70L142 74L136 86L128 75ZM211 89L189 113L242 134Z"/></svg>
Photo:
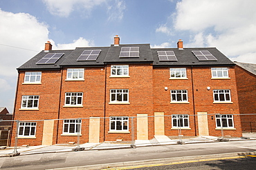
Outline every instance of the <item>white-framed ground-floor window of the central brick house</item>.
<svg viewBox="0 0 256 170"><path fill-rule="evenodd" d="M109 131L128 131L129 118L126 116L111 116Z"/></svg>

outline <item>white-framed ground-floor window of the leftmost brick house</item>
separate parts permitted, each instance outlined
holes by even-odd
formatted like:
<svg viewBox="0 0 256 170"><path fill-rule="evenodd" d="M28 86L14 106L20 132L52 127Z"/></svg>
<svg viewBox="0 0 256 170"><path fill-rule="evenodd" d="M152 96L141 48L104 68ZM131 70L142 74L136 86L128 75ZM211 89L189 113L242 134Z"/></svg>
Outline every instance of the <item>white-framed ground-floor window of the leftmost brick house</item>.
<svg viewBox="0 0 256 170"><path fill-rule="evenodd" d="M37 123L19 123L19 136L35 136L35 127L37 127Z"/></svg>

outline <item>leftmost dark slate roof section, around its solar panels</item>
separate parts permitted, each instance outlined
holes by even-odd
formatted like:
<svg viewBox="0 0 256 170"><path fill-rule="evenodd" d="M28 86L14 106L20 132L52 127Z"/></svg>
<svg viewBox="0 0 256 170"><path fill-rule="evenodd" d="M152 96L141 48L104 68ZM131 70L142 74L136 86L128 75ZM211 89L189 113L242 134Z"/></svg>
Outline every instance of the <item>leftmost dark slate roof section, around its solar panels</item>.
<svg viewBox="0 0 256 170"><path fill-rule="evenodd" d="M49 52L39 52L32 59L21 65L17 70L45 70L45 69L60 69L60 64L71 54L73 50L50 50ZM64 53L64 55L55 64L36 64L37 61L42 59L48 53Z"/></svg>

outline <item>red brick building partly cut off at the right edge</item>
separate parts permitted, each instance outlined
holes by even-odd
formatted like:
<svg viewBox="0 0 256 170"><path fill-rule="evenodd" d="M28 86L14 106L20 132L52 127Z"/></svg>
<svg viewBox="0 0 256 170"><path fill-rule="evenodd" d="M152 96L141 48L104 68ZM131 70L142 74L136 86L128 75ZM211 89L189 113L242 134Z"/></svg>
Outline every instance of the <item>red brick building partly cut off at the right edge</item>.
<svg viewBox="0 0 256 170"><path fill-rule="evenodd" d="M235 62L241 128L256 132L256 64Z"/></svg>

